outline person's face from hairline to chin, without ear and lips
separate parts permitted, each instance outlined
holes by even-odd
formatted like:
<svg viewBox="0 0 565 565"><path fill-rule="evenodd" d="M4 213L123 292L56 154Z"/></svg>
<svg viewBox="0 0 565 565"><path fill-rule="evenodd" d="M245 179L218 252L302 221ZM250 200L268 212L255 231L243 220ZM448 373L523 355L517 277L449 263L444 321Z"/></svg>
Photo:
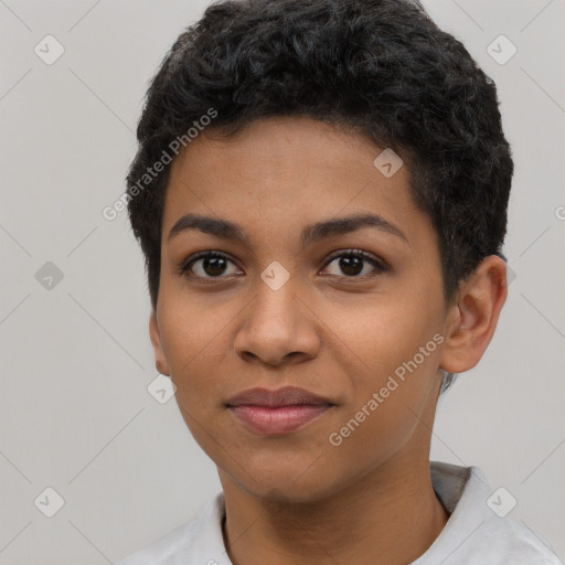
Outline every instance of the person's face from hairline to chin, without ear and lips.
<svg viewBox="0 0 565 565"><path fill-rule="evenodd" d="M172 163L151 340L223 483L313 500L401 460L427 465L446 329L440 257L407 166L390 177L373 163L383 149L277 117L231 139L204 131ZM188 214L210 221L195 227ZM227 406L286 386L327 405L282 431Z"/></svg>

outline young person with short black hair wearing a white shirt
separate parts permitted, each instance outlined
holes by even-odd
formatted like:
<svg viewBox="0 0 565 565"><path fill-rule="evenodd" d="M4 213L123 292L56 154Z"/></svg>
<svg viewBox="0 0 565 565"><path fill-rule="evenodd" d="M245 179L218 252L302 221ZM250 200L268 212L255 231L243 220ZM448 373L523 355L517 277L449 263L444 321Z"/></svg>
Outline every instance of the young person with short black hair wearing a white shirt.
<svg viewBox="0 0 565 565"><path fill-rule="evenodd" d="M215 3L138 140L156 365L223 492L120 565L557 564L429 461L507 296L513 163L461 43L408 0Z"/></svg>

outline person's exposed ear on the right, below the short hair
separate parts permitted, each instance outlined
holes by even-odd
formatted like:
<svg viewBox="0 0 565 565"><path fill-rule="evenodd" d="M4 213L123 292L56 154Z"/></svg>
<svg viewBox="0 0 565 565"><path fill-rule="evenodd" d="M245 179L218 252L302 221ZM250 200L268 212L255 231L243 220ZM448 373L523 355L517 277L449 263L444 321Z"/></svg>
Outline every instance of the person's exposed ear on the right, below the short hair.
<svg viewBox="0 0 565 565"><path fill-rule="evenodd" d="M448 373L472 369L492 339L499 315L507 300L507 264L489 255L463 280L448 308L445 345L439 366Z"/></svg>

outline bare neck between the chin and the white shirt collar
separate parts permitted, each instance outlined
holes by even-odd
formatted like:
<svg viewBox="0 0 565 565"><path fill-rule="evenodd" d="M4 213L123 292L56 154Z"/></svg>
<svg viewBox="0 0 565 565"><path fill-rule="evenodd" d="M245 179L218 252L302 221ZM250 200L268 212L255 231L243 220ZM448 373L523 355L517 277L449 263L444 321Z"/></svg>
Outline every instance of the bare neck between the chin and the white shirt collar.
<svg viewBox="0 0 565 565"><path fill-rule="evenodd" d="M426 458L397 460L327 498L265 501L221 473L226 504L224 543L234 565L366 563L405 565L445 526Z"/></svg>

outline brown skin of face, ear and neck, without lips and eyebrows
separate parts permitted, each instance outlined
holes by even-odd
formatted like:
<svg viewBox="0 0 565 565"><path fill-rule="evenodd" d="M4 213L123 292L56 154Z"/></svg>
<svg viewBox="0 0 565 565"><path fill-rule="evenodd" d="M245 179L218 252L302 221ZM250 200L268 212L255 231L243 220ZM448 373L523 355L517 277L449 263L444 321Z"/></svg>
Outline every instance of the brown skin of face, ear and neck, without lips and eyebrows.
<svg viewBox="0 0 565 565"><path fill-rule="evenodd" d="M505 300L505 265L487 257L447 305L437 234L413 202L408 166L385 178L373 164L381 151L356 132L276 117L231 139L205 131L171 166L150 335L158 371L217 466L234 565L407 564L448 519L429 475L439 369L460 373L482 356ZM406 241L362 227L300 245L305 225L366 212ZM188 213L237 223L247 245L198 230L169 238ZM388 269L329 259L351 249ZM200 259L182 275L202 250L230 260L214 270ZM278 290L260 278L274 260L290 276ZM435 334L443 343L332 446L329 435ZM225 406L245 388L285 385L335 406L278 436L249 431Z"/></svg>

